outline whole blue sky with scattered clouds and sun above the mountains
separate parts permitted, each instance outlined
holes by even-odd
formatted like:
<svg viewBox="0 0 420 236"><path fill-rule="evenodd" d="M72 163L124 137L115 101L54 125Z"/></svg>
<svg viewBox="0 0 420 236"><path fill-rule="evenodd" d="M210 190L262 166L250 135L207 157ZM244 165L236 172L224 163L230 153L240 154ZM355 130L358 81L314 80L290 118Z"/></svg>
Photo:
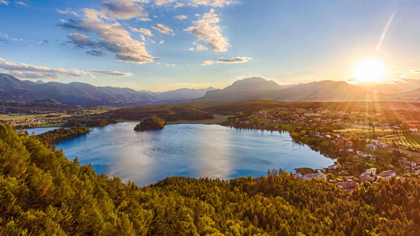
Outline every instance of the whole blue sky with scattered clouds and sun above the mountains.
<svg viewBox="0 0 420 236"><path fill-rule="evenodd" d="M0 72L151 91L420 79L419 12L415 0L0 0Z"/></svg>

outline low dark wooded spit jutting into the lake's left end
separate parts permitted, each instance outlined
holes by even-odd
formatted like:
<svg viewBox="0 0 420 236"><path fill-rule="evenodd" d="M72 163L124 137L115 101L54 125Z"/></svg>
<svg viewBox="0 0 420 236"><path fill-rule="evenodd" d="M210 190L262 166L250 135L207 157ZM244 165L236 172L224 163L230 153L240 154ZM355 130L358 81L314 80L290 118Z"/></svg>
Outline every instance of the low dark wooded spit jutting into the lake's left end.
<svg viewBox="0 0 420 236"><path fill-rule="evenodd" d="M92 130L85 127L58 128L42 134L38 134L37 137L44 144L53 144L66 139L72 139L77 136L87 134L90 131Z"/></svg>

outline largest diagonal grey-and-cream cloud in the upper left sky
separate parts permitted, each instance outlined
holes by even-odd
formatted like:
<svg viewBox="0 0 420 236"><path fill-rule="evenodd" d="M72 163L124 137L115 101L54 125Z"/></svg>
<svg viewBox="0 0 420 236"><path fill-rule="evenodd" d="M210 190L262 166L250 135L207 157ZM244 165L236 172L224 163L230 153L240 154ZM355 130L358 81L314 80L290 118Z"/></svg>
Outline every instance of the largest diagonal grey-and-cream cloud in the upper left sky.
<svg viewBox="0 0 420 236"><path fill-rule="evenodd" d="M115 0L112 2L115 2ZM58 24L58 26L97 34L100 40L97 42L97 46L114 52L115 58L120 61L143 64L153 62L153 60L157 59L149 55L144 47L144 42L131 38L130 33L118 22L105 22L102 20L103 13L94 9L84 8L83 11L84 18L80 20L69 20ZM121 11L115 12L121 13ZM129 13L121 13L120 17L128 17L128 15Z"/></svg>

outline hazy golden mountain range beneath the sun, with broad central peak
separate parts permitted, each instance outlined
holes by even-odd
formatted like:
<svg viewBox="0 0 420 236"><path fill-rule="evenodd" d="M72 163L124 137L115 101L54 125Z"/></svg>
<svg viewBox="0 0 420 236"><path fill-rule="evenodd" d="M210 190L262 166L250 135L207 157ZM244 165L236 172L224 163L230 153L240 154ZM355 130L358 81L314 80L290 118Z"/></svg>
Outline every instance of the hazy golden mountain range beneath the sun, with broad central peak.
<svg viewBox="0 0 420 236"><path fill-rule="evenodd" d="M398 84L349 84L346 81L315 81L292 85L279 85L260 77L235 81L224 89L208 91L203 97L193 101L227 100L239 101L248 99L271 99L282 101L349 101L349 100L404 100L415 101L420 96L420 89L383 93L378 91L406 91ZM367 87L367 89L365 88ZM420 85L419 85L420 87Z"/></svg>

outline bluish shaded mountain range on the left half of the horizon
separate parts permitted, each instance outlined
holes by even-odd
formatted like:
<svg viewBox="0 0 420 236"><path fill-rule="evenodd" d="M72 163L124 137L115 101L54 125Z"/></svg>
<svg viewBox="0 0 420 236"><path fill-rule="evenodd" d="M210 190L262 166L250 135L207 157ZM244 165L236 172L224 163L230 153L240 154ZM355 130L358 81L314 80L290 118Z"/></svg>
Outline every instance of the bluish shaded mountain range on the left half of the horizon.
<svg viewBox="0 0 420 236"><path fill-rule="evenodd" d="M0 73L0 100L28 102L51 98L72 105L142 104L154 102L184 102L202 97L207 89L177 89L168 92L136 91L119 87L96 87L87 83L59 82L44 83L19 80L11 75Z"/></svg>

